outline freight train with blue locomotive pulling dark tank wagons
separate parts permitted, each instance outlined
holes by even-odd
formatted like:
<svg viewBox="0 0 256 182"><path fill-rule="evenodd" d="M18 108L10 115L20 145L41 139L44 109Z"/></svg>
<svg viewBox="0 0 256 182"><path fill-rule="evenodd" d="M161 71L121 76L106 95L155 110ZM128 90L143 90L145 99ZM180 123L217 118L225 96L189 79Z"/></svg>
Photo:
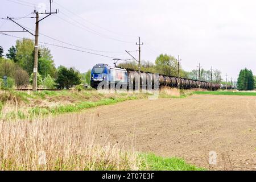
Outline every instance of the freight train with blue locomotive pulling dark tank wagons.
<svg viewBox="0 0 256 182"><path fill-rule="evenodd" d="M132 84L133 88L136 87L135 80L131 81L133 76L131 75L138 75L138 71L133 69L125 69L119 67L110 67L107 64L97 64L93 67L91 72L90 78L90 85L92 88L97 89L98 85L101 82L106 82L110 84L120 84L129 87L129 84ZM144 80L148 78L153 78L150 81L152 85L154 85L154 73L149 72L141 72L141 87L147 88L147 83L149 80ZM143 79L144 78L144 79ZM144 80L144 81L143 81ZM158 84L159 87L162 86L170 86L172 88L180 88L183 89L192 89L192 88L202 88L202 89L209 89L209 90L218 90L218 89L226 89L226 85L222 84L214 84L207 81L199 81L199 80L192 80L188 78L178 78L174 76L167 76L167 75L160 75L158 76ZM130 85L131 86L131 85ZM138 85L137 85L138 86ZM228 85L228 89L235 89L234 86Z"/></svg>

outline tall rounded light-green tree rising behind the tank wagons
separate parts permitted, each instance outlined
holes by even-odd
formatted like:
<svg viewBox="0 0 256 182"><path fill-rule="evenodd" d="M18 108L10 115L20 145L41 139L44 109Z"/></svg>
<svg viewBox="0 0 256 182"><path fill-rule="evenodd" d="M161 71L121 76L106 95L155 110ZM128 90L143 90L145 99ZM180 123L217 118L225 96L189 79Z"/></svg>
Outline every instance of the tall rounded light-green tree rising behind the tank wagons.
<svg viewBox="0 0 256 182"><path fill-rule="evenodd" d="M178 63L174 56L167 54L156 57L156 71L167 76L177 76Z"/></svg>

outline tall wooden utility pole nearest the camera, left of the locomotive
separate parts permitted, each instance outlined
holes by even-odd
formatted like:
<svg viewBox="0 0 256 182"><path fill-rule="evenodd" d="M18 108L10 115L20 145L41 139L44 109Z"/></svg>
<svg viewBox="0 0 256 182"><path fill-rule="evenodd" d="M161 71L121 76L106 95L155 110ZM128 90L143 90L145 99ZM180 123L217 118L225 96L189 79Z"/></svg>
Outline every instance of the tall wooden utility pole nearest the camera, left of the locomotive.
<svg viewBox="0 0 256 182"><path fill-rule="evenodd" d="M33 91L38 89L38 36L39 36L39 13L36 12L36 29L35 29L35 51L34 51L34 80Z"/></svg>

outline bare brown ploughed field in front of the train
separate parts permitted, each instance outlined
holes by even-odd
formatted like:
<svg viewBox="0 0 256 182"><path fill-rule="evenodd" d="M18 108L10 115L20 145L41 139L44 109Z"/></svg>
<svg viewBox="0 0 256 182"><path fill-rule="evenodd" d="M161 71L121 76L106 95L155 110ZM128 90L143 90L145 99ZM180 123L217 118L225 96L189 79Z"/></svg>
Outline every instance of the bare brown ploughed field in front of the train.
<svg viewBox="0 0 256 182"><path fill-rule="evenodd" d="M126 101L79 115L113 142L134 143L137 151L178 156L209 169L256 170L256 97ZM209 165L210 151L217 152L216 166Z"/></svg>

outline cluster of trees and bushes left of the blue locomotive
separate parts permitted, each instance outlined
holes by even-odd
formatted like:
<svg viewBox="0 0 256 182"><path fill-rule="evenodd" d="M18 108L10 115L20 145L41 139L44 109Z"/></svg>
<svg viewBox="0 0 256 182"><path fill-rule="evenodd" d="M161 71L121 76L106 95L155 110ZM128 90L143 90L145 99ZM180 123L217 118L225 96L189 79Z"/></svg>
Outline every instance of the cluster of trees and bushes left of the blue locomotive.
<svg viewBox="0 0 256 182"><path fill-rule="evenodd" d="M1 87L28 88L33 82L34 47L31 39L16 40L6 55L0 46L0 77L7 76L7 80L0 79ZM72 86L88 82L82 80L82 74L75 68L55 67L51 51L44 46L38 52L38 86L41 88L71 88Z"/></svg>

